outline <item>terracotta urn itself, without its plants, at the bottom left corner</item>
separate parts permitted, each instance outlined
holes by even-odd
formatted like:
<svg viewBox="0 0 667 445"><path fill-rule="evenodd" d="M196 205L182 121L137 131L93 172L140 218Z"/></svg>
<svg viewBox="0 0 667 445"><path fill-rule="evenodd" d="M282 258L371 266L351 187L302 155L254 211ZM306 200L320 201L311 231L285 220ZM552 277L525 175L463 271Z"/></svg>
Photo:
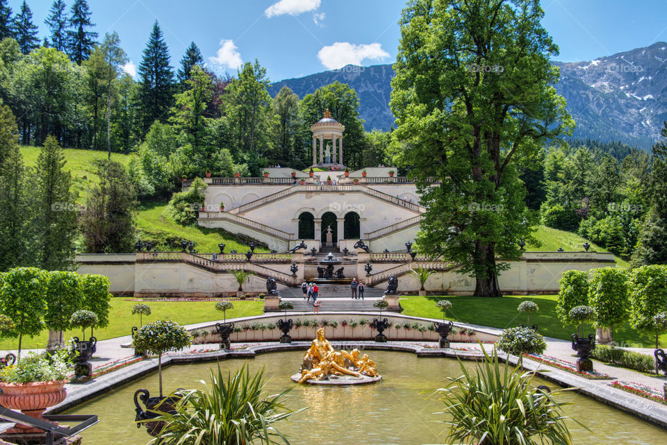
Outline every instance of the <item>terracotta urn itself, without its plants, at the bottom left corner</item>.
<svg viewBox="0 0 667 445"><path fill-rule="evenodd" d="M20 410L26 416L47 421L42 417L44 411L65 400L67 380L51 380L50 382L31 383L0 383L0 405L10 410ZM5 433L43 433L38 428L17 423Z"/></svg>

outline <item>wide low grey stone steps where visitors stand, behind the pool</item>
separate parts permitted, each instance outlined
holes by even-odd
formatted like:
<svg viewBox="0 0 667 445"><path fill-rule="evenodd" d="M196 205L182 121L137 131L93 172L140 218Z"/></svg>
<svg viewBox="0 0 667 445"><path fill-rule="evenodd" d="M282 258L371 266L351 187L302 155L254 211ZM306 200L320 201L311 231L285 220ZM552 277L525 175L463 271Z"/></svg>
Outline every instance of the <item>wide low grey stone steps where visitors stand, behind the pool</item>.
<svg viewBox="0 0 667 445"><path fill-rule="evenodd" d="M364 299L353 300L349 285L322 284L318 287L320 287L318 300L322 302L320 312L343 312L348 310L374 312L377 311L377 308L373 308L374 301L381 299L384 295L382 289L367 286L363 292ZM300 286L281 289L280 296L283 301L292 302L294 305L293 312L313 311L313 301L306 303Z"/></svg>

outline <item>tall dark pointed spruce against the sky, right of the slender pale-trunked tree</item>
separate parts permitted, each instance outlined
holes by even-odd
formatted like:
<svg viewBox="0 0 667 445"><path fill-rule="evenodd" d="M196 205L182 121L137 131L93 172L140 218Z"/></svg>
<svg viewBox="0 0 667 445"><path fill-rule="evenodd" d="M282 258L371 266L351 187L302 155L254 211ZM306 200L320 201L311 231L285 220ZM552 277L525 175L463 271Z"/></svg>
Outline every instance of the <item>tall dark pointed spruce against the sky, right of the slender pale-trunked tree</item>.
<svg viewBox="0 0 667 445"><path fill-rule="evenodd" d="M139 76L142 131L145 133L154 121L167 119L173 101L174 73L169 66L169 49L157 21L144 49Z"/></svg>

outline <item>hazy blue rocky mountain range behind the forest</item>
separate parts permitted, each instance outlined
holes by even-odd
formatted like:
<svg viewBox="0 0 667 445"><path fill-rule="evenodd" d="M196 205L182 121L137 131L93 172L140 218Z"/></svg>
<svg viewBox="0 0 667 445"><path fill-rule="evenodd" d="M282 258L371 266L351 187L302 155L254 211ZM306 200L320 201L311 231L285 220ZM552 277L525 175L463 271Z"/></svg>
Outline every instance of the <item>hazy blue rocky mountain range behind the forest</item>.
<svg viewBox="0 0 667 445"><path fill-rule="evenodd" d="M573 137L613 140L650 149L667 120L667 43L633 49L590 62L553 62L561 69L556 90L568 102L577 127ZM359 114L366 130L388 130L394 124L389 109L391 65L346 67L270 86L271 96L283 86L303 97L339 81L359 96Z"/></svg>

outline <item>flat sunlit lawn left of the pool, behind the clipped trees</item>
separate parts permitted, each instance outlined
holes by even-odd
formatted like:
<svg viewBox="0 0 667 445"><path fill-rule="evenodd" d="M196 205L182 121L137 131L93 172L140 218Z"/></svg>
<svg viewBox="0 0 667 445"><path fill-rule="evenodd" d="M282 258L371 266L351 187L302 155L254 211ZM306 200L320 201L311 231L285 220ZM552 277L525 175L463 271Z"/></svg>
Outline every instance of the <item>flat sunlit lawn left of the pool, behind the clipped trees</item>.
<svg viewBox="0 0 667 445"><path fill-rule="evenodd" d="M110 324L104 329L94 331L94 336L98 340L104 340L114 337L129 335L132 326L139 326L139 316L132 315L132 308L140 301L128 301L125 298L117 297L111 299L112 310L109 316ZM151 307L151 314L143 317L143 323L156 321L158 319L171 319L179 324L193 324L201 321L213 321L222 319L222 312L214 310L215 301L155 301L145 300ZM227 311L227 318L249 317L251 315L260 315L264 307L263 301L233 301L234 308ZM81 330L67 331L65 339L72 336L81 338ZM90 335L90 330L86 336ZM22 348L43 348L47 344L49 331L43 330L38 337L23 339ZM0 349L16 349L18 339L2 339Z"/></svg>

